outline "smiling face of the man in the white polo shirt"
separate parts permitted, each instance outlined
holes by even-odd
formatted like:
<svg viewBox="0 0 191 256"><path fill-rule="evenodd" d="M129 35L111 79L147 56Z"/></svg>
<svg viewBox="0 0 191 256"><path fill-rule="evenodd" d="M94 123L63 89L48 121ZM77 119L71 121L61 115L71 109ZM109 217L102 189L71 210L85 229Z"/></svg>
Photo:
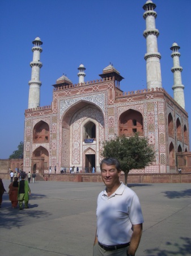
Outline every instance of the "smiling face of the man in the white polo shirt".
<svg viewBox="0 0 191 256"><path fill-rule="evenodd" d="M117 171L116 166L108 166L103 163L101 166L101 177L107 188L113 188L120 184L119 176L121 171Z"/></svg>

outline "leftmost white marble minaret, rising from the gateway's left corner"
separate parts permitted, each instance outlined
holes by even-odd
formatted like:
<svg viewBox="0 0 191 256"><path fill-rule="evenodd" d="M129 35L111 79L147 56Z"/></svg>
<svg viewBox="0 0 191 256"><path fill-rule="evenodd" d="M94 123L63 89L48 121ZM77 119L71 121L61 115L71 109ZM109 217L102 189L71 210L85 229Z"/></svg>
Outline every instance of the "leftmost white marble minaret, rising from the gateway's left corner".
<svg viewBox="0 0 191 256"><path fill-rule="evenodd" d="M29 84L29 96L28 96L28 109L37 108L40 106L40 68L43 64L40 62L40 53L43 49L40 47L43 42L40 38L35 38L32 42L34 46L32 47L33 59L30 63L32 68L31 80Z"/></svg>

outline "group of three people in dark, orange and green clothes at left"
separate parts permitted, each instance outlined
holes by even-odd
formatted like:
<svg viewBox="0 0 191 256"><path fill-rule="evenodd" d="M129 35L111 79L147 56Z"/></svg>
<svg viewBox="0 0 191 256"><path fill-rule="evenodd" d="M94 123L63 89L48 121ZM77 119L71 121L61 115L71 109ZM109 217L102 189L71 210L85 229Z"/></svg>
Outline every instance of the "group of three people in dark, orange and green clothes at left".
<svg viewBox="0 0 191 256"><path fill-rule="evenodd" d="M9 185L9 200L11 201L12 209L15 209L19 204L19 209L23 209L24 206L28 208L29 195L31 195L31 189L28 185L28 181L25 180L26 176L22 175L21 180L18 177L14 177L14 181L11 181ZM0 178L0 207L2 204L3 193L6 192L6 189L3 185L3 181Z"/></svg>

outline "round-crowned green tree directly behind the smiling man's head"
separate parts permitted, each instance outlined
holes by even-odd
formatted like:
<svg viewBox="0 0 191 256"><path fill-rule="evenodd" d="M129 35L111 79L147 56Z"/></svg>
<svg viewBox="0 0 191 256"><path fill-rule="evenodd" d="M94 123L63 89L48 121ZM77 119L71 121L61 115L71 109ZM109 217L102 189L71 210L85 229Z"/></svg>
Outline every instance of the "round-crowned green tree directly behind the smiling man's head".
<svg viewBox="0 0 191 256"><path fill-rule="evenodd" d="M117 137L103 142L101 156L112 157L120 161L121 170L125 174L127 184L129 171L149 166L155 160L155 151L144 137L135 134L132 137Z"/></svg>

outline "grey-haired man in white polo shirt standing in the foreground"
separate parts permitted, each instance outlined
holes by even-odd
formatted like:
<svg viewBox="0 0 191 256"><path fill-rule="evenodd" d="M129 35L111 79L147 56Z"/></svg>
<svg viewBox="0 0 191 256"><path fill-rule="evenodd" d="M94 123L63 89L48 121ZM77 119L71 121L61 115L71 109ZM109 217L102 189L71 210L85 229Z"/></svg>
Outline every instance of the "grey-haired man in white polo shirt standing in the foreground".
<svg viewBox="0 0 191 256"><path fill-rule="evenodd" d="M120 182L120 163L105 158L100 163L106 188L97 198L94 256L134 256L142 234L143 216L138 196Z"/></svg>

